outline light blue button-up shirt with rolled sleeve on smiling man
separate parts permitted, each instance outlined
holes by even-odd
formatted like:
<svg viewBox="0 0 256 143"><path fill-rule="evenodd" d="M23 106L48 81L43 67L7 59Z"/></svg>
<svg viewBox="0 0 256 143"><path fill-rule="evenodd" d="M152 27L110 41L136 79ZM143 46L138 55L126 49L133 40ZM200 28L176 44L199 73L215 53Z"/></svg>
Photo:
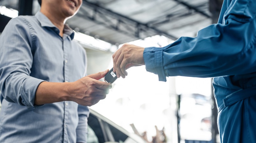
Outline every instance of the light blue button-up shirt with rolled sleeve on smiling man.
<svg viewBox="0 0 256 143"><path fill-rule="evenodd" d="M67 25L41 12L12 19L0 36L0 142L86 142L88 107L65 101L35 105L43 82L74 82L86 73L85 50Z"/></svg>

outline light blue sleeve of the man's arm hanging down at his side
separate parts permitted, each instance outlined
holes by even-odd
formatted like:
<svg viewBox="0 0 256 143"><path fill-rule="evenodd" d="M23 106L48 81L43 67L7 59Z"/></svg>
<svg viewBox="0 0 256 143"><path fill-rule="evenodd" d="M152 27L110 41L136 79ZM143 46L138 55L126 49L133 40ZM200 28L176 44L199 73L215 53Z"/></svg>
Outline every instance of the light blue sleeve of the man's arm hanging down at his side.
<svg viewBox="0 0 256 143"><path fill-rule="evenodd" d="M78 105L78 126L76 128L76 142L87 142L87 118L89 117L89 108L87 106Z"/></svg>

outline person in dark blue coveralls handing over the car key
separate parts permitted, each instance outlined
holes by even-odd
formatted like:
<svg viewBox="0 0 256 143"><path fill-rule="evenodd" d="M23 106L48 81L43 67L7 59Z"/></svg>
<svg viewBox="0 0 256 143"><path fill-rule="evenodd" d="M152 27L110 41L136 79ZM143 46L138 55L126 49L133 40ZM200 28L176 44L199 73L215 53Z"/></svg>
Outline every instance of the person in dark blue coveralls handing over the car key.
<svg viewBox="0 0 256 143"><path fill-rule="evenodd" d="M197 37L181 37L165 47L124 44L113 55L117 77L145 65L167 76L214 77L222 143L256 142L256 1L224 0L218 24Z"/></svg>

